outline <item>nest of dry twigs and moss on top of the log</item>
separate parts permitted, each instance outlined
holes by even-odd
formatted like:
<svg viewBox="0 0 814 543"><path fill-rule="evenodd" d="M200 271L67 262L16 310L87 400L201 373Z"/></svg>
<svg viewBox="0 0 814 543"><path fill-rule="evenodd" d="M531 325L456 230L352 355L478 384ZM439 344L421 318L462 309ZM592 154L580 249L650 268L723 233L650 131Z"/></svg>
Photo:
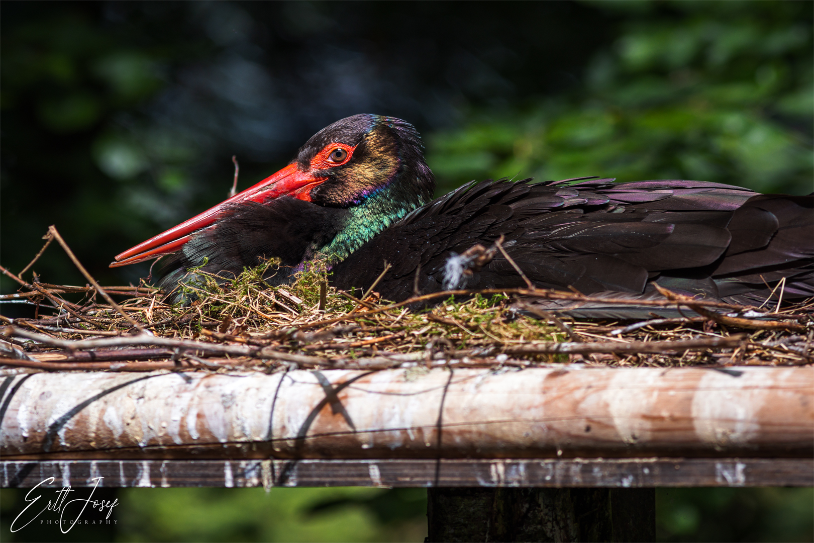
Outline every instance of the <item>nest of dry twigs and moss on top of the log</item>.
<svg viewBox="0 0 814 543"><path fill-rule="evenodd" d="M88 285L26 282L0 296L33 304L34 318L2 317L0 372L53 370L383 370L405 367L806 365L814 361L814 300L781 304L782 289L763 306L697 300L661 289L685 317L641 322L587 321L543 313L517 300L544 298L604 304L578 292L527 288L443 291L400 303L328 285L316 263L283 287L263 280L265 266L225 281L198 274L182 285L189 305L164 302L146 283L101 287L59 232L53 240ZM522 275L522 271L518 269ZM120 303L112 296L120 297ZM124 297L122 299L121 297ZM69 301L67 298L74 298ZM416 309L432 304L431 309ZM641 302L637 302L641 304ZM768 309L771 307L772 309ZM752 315L753 317L748 317ZM754 317L759 315L759 317Z"/></svg>

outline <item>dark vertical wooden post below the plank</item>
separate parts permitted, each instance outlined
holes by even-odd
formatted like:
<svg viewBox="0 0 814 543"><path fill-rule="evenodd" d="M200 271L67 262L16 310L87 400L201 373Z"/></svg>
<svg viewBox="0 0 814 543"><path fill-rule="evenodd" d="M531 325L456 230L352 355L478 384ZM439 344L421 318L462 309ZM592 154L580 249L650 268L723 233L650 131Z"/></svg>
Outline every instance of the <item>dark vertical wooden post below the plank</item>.
<svg viewBox="0 0 814 543"><path fill-rule="evenodd" d="M654 488L430 488L427 541L655 541Z"/></svg>

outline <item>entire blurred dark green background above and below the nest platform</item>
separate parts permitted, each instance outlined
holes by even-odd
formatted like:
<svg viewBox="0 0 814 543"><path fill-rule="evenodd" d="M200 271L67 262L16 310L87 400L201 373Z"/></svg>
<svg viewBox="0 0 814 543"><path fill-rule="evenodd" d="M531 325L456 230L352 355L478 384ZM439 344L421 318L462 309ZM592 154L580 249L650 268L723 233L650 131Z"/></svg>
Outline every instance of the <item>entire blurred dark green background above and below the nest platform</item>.
<svg viewBox="0 0 814 543"><path fill-rule="evenodd" d="M242 190L360 112L418 127L439 194L584 175L807 194L812 7L0 2L0 263L23 269L55 224L100 282L137 282L147 265L108 269L112 257L224 199L232 155ZM56 246L33 272L85 283ZM127 532L101 538L422 537L420 490L253 492L122 491ZM2 497L12 541L21 495ZM659 538L812 541L812 509L810 488L664 490Z"/></svg>

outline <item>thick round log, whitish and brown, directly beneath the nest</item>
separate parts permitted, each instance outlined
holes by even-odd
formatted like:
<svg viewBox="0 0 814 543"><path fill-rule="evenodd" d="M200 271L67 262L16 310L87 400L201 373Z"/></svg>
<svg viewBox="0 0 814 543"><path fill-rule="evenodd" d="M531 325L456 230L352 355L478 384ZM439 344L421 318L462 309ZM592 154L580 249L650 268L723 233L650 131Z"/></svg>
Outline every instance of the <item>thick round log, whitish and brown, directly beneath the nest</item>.
<svg viewBox="0 0 814 543"><path fill-rule="evenodd" d="M5 460L810 457L814 369L40 373Z"/></svg>

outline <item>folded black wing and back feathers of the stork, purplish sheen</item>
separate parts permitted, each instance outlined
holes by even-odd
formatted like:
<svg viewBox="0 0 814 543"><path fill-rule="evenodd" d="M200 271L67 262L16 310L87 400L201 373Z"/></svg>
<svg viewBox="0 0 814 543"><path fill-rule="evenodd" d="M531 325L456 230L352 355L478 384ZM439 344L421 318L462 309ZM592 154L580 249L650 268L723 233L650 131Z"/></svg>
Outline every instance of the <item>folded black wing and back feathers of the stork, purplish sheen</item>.
<svg viewBox="0 0 814 543"><path fill-rule="evenodd" d="M799 300L814 296L811 232L808 196L691 181L487 181L396 222L336 265L333 283L370 285L387 261L392 269L376 287L382 296L411 296L419 265L419 290L440 291L450 253L502 234L537 287L650 297L658 281L690 296L761 304L785 277L785 296ZM501 256L466 281L467 288L524 285Z"/></svg>

